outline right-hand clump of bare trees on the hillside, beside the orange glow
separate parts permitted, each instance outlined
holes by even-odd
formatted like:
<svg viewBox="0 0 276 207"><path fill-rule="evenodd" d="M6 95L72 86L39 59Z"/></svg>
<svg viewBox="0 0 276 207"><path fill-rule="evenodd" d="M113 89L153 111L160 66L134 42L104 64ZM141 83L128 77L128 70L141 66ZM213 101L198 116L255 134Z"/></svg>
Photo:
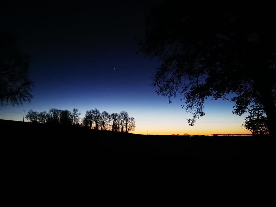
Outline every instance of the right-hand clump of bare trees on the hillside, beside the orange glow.
<svg viewBox="0 0 276 207"><path fill-rule="evenodd" d="M82 125L89 129L109 129L129 133L135 130L135 119L129 117L126 111L108 114L106 111L100 112L95 108L86 112Z"/></svg>

